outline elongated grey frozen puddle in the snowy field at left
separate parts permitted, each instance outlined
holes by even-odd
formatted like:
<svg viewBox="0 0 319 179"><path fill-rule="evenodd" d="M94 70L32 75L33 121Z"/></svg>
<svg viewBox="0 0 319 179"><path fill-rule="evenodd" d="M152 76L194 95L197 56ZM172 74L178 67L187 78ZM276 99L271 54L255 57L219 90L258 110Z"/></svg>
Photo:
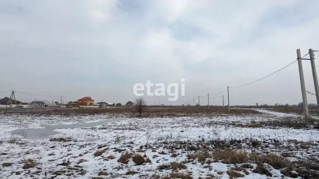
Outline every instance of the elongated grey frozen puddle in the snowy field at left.
<svg viewBox="0 0 319 179"><path fill-rule="evenodd" d="M12 134L21 135L24 139L48 139L53 135L61 134L62 132L55 131L56 129L71 129L71 128L83 128L83 127L94 127L98 125L106 125L109 122L122 121L127 120L129 118L124 119L113 119L113 120L104 120L99 122L91 122L91 123L81 123L81 124L59 124L59 125L41 125L41 128L29 128L29 129L16 129L12 132Z"/></svg>

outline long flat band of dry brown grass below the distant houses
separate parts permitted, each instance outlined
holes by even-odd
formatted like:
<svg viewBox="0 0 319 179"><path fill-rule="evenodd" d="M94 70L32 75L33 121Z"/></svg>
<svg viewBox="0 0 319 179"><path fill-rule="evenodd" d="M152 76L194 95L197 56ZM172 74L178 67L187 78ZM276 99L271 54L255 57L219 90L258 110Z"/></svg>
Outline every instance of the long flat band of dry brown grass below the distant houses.
<svg viewBox="0 0 319 179"><path fill-rule="evenodd" d="M137 113L132 107L116 107L116 108L79 108L79 109L69 109L69 108L42 108L42 109L19 109L19 110L3 110L0 109L4 115L35 115L35 116L51 116L51 115L61 115L61 116L80 116L80 115L98 115L98 114L110 114L110 115L122 115L127 117L136 117ZM257 114L259 112L255 110L247 109L231 109L231 114ZM202 106L198 108L187 108L181 106L148 106L147 111L143 113L143 117L178 117L178 116L198 116L198 115L218 115L218 114L228 114L228 109L223 107L210 107L207 110L207 106Z"/></svg>

